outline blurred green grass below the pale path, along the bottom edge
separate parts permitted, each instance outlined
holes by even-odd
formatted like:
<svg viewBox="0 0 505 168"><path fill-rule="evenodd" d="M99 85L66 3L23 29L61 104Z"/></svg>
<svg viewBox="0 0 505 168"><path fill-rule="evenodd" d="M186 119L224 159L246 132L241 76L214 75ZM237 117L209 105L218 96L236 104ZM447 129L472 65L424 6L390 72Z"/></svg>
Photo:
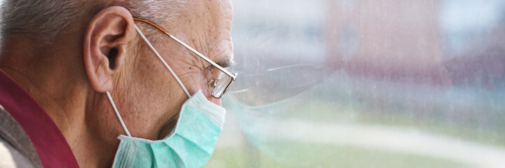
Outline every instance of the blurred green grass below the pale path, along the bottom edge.
<svg viewBox="0 0 505 168"><path fill-rule="evenodd" d="M265 148L268 151L260 151L252 146L216 148L206 167L468 167L422 155L352 146L278 143L266 145Z"/></svg>

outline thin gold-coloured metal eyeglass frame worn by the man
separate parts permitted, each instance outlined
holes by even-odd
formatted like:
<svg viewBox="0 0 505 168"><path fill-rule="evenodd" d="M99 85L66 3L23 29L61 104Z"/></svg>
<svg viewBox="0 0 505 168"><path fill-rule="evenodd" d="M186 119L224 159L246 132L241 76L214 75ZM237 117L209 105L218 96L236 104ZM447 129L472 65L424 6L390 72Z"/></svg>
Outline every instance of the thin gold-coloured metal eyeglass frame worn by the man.
<svg viewBox="0 0 505 168"><path fill-rule="evenodd" d="M174 41L176 41L177 43L183 45L184 48L190 50L191 52L193 52L193 54L198 55L198 57L201 57L202 59L204 59L205 62L208 62L212 66L214 66L217 69L219 69L219 71L221 71L222 73L225 73L227 76L230 76L230 78L232 78L232 80L230 80L230 83L228 83L228 85L226 85L226 87L223 90L223 92L221 93L221 95L219 95L219 97L215 97L214 94L211 93L212 97L214 97L216 99L221 99L221 97L223 97L223 94L225 94L226 91L228 90L228 88L230 87L231 83L233 83L237 79L237 73L230 73L230 71L228 71L228 70L224 69L223 67L219 66L219 64L216 64L216 62L213 62L208 57L205 57L205 55L202 55L197 50L191 48L189 45L187 45L186 43L184 43L181 40L179 40L179 38L176 38L175 36L172 36L172 34L168 33L168 31L165 31L165 29L162 29L161 27L158 27L158 25L155 25L153 22L148 21L148 20L144 20L144 19L141 19L141 18L133 18L133 20L137 20L137 21L140 21L140 22L147 23L148 25L151 25L151 26L155 27L156 29L162 31L164 34L167 34L167 36L169 36L170 38L172 38ZM218 80L215 80L214 83L216 83ZM212 80L210 82L212 82ZM210 82L208 83L208 85L210 85Z"/></svg>

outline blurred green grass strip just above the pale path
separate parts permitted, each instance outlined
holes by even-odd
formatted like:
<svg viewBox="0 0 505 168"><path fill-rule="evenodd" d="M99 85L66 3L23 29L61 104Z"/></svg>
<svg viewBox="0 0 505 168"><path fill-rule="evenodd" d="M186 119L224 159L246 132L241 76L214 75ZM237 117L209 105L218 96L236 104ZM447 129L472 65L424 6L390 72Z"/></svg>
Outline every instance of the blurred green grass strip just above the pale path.
<svg viewBox="0 0 505 168"><path fill-rule="evenodd" d="M307 122L314 123L410 127L448 137L505 147L505 134L502 133L505 132L505 124L499 118L502 114L487 117L490 118L487 123L478 123L471 120L452 120L443 116L445 113L437 109L434 109L430 116L416 116L416 112L408 109L390 107L371 110L363 106L350 106L337 102L317 100L310 104L303 104L304 106L296 106L293 108L296 110L291 109L291 113L289 116L286 115L286 118L303 118ZM481 110L486 111L485 108ZM480 115L486 115L486 113ZM478 116L469 116L469 118L476 117Z"/></svg>

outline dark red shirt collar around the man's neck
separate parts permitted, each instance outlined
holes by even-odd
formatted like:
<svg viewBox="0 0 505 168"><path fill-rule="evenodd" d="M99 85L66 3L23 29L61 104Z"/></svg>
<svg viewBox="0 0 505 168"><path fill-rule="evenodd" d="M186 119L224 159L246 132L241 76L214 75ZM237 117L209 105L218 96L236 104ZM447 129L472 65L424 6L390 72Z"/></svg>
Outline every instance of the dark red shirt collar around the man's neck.
<svg viewBox="0 0 505 168"><path fill-rule="evenodd" d="M0 104L25 130L43 167L78 167L67 140L48 113L1 70Z"/></svg>

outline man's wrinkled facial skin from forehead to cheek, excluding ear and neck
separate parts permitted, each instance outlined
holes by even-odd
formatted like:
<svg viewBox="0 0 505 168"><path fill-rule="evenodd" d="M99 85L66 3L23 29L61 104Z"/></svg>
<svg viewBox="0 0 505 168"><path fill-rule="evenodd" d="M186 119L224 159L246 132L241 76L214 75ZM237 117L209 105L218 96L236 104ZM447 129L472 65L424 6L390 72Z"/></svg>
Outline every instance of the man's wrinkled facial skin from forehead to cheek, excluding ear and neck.
<svg viewBox="0 0 505 168"><path fill-rule="evenodd" d="M231 59L233 54L230 36L231 4L224 1L204 1L204 3L192 1L192 3L195 4L188 4L189 10L198 12L189 13L190 16L177 25L161 27L214 62L226 62L226 59ZM136 22L136 24L144 23ZM144 29L154 27L146 26ZM221 101L210 94L207 83L210 79L219 77L221 71L215 68L209 70L209 64L204 59L189 52L172 38L166 36L161 40L166 42L155 49L179 76L188 92L194 94L202 90L207 99L220 105ZM142 48L147 48L141 39L138 43ZM120 73L116 79L120 84L115 85L113 89L118 90L118 97L121 97L114 99L118 110L127 113L123 116L123 120L134 137L157 139L161 125L177 116L175 114L188 97L151 50L141 52L126 62L131 65L132 69L128 69L131 72ZM125 84L122 83L123 80L126 80ZM177 118L170 121L175 119ZM170 131L170 128L161 130Z"/></svg>

